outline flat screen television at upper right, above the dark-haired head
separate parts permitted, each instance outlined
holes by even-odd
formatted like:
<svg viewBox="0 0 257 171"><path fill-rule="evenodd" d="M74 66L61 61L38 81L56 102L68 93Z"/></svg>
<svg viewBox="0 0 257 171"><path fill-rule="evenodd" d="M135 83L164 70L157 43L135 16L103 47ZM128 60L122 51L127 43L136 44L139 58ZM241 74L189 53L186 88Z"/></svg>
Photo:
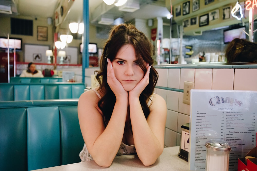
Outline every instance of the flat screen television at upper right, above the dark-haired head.
<svg viewBox="0 0 257 171"><path fill-rule="evenodd" d="M245 31L245 26L224 30L223 31L224 43L227 44L231 42L234 38L246 39L246 34L243 32L243 30Z"/></svg>

